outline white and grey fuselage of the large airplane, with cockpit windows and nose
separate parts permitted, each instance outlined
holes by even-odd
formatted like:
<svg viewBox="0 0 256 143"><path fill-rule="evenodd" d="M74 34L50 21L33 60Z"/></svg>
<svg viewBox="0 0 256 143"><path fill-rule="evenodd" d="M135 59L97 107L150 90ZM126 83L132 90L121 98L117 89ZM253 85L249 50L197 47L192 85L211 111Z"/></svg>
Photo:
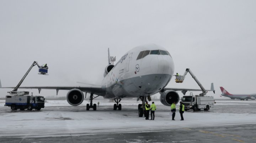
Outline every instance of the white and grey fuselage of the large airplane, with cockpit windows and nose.
<svg viewBox="0 0 256 143"><path fill-rule="evenodd" d="M104 98L154 95L169 83L173 73L174 62L165 48L155 44L135 47L103 79Z"/></svg>

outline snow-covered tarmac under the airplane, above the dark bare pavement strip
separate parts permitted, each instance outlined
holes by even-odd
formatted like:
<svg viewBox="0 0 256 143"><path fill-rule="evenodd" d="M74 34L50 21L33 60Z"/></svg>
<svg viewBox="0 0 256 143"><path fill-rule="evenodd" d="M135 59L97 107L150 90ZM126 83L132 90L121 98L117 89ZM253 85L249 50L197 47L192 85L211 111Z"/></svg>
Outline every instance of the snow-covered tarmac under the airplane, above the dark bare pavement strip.
<svg viewBox="0 0 256 143"><path fill-rule="evenodd" d="M136 101L122 100L121 111L113 110L114 103L108 100L100 101L97 111L86 111L87 101L74 107L66 101L47 100L46 107L41 111L12 111L10 107L4 107L4 102L0 100L0 138L178 131L199 127L254 125L256 119L256 101L216 101L215 108L209 111L185 112L184 121L180 121L178 112L176 120L172 121L170 107L159 101L155 101L155 120L139 118L138 104L141 102ZM94 103L97 102L94 100Z"/></svg>

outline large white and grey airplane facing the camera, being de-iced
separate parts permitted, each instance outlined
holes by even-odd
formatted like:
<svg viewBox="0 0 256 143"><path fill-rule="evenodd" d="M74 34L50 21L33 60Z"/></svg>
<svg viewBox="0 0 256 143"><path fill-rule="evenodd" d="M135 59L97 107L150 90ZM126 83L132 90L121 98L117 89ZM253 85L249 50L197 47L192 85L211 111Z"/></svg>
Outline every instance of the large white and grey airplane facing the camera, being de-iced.
<svg viewBox="0 0 256 143"><path fill-rule="evenodd" d="M170 53L163 47L155 44L141 45L128 51L121 57L116 65L109 64L105 68L104 79L101 86L31 86L19 88L38 88L69 90L66 95L70 105L77 106L84 101L84 93L90 93L90 104L86 105L86 110L93 108L96 104L92 101L93 95L103 96L107 99L114 99L114 110L121 110L119 104L122 98L137 98L142 104L138 105L139 116L143 116L143 105L146 98L150 101L151 95L160 93L160 101L166 106L171 106L173 102L178 103L180 97L176 91L201 91L201 89L180 89L165 88L174 74L174 62ZM4 87L14 88L14 87ZM211 90L215 91L213 86Z"/></svg>

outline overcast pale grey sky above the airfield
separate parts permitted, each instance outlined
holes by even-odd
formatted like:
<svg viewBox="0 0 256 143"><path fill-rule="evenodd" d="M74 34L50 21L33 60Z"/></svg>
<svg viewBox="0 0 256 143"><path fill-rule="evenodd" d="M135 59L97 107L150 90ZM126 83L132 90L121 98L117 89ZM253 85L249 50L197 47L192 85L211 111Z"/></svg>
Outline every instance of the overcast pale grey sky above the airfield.
<svg viewBox="0 0 256 143"><path fill-rule="evenodd" d="M216 98L219 86L256 93L255 7L255 0L0 0L1 83L16 86L37 61L48 64L49 75L34 67L22 86L101 84L108 47L118 61L155 43L171 53L175 73L190 68L207 89L214 82ZM199 88L190 75L168 87Z"/></svg>

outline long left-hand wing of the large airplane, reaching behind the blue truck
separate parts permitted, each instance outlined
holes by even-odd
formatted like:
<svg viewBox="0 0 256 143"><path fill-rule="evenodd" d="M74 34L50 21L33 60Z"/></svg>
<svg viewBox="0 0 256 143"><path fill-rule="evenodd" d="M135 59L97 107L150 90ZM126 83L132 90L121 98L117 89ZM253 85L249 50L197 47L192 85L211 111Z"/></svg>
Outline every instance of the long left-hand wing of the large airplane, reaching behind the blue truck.
<svg viewBox="0 0 256 143"><path fill-rule="evenodd" d="M0 87L0 88L15 88L15 87ZM38 89L39 93L41 92L41 89L55 89L57 91L59 90L71 90L73 88L77 88L83 92L88 93L94 93L95 95L103 96L106 94L106 89L101 86L26 86L26 87L19 87L19 88L27 88L27 89Z"/></svg>

